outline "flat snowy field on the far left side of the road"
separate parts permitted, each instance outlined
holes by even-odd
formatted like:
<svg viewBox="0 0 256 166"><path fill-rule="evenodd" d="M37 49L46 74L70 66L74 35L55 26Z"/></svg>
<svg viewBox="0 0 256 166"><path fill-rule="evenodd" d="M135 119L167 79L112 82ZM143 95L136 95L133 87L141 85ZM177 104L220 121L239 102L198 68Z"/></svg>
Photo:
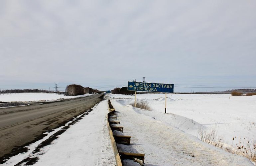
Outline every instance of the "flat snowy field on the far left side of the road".
<svg viewBox="0 0 256 166"><path fill-rule="evenodd" d="M92 94L84 94L78 96L64 96L58 95L55 93L11 93L11 94L1 94L0 95L0 102L29 102L29 101L47 101L47 100L58 100L60 98L76 98L76 97L83 97L83 96L90 96Z"/></svg>

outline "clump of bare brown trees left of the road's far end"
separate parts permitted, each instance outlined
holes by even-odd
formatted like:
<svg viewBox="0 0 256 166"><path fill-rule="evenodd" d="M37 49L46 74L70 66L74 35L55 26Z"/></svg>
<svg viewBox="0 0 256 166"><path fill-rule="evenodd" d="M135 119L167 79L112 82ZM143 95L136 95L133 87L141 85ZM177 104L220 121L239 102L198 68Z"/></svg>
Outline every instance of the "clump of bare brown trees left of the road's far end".
<svg viewBox="0 0 256 166"><path fill-rule="evenodd" d="M92 89L92 88L89 88L89 87L83 87L81 85L76 85L76 84L67 85L65 91L66 91L68 96L83 95L83 94L86 94L86 93L92 94L93 92L98 92L97 89Z"/></svg>

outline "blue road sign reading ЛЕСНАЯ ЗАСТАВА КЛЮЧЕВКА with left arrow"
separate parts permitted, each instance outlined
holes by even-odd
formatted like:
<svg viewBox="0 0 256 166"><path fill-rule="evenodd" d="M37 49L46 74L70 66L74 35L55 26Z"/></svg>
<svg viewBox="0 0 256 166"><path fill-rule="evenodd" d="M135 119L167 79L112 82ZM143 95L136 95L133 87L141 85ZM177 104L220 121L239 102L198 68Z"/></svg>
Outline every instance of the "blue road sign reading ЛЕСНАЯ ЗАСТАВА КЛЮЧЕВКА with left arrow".
<svg viewBox="0 0 256 166"><path fill-rule="evenodd" d="M161 84L149 82L129 82L128 91L165 92L173 93L174 84Z"/></svg>

